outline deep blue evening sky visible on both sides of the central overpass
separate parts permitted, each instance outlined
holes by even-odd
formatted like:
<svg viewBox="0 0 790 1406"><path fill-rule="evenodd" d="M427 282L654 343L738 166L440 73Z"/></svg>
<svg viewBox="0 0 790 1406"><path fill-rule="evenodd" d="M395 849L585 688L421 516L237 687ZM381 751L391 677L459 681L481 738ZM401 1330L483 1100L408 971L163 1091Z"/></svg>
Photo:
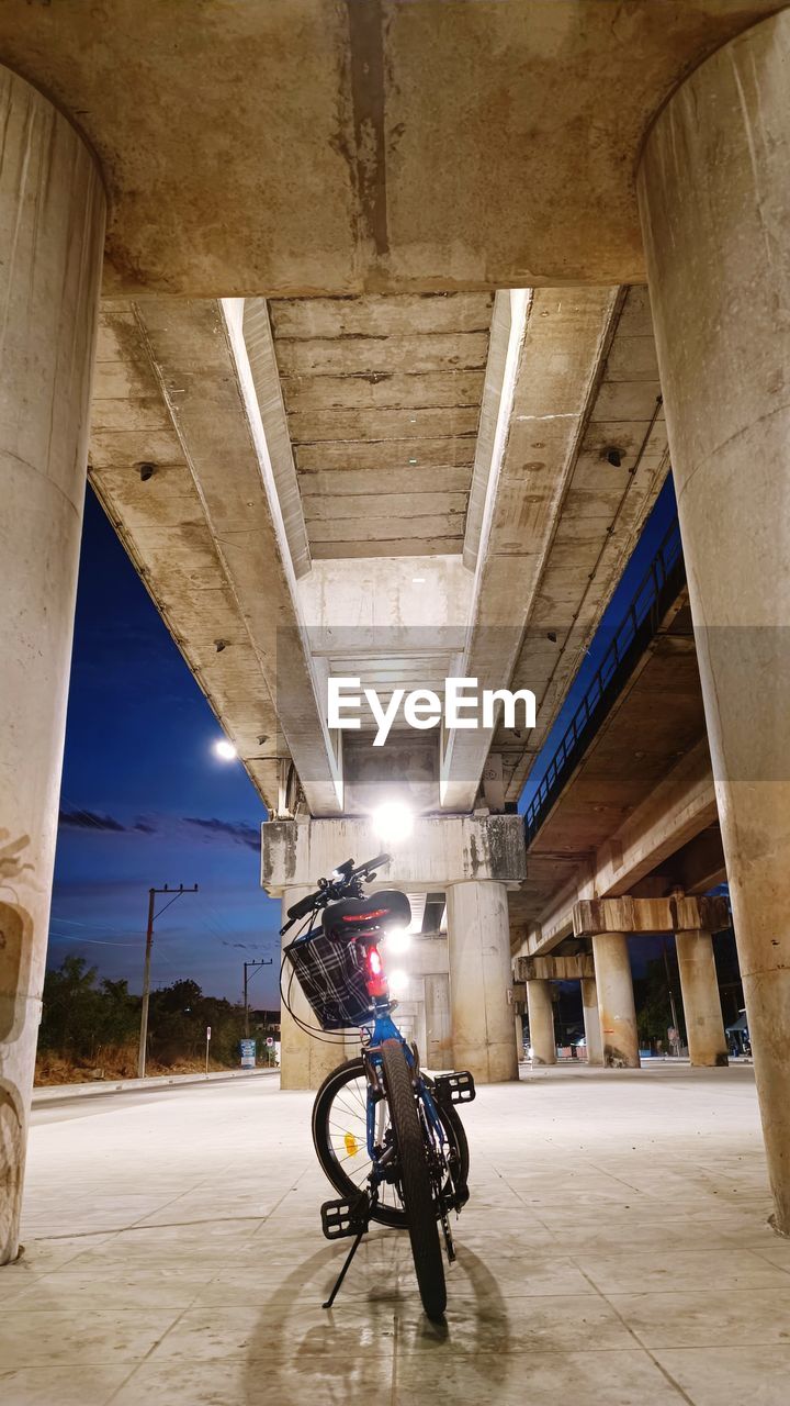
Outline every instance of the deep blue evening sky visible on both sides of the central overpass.
<svg viewBox="0 0 790 1406"><path fill-rule="evenodd" d="M675 515L668 481L520 808ZM266 808L89 488L80 558L49 965L79 953L142 984L148 890L200 886L156 924L153 986L181 977L239 1000L245 959L274 957L250 997L278 1004L280 904L260 889ZM541 765L543 761L543 765ZM159 900L164 904L167 900Z"/></svg>

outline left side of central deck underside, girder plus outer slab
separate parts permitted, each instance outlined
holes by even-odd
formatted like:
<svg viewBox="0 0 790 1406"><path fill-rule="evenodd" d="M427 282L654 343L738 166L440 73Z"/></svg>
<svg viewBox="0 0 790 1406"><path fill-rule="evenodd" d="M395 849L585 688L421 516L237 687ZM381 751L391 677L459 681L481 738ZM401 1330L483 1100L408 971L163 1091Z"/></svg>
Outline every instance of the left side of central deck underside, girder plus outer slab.
<svg viewBox="0 0 790 1406"><path fill-rule="evenodd" d="M103 309L91 482L268 808L294 756L312 808L332 814L342 783L240 316L211 299Z"/></svg>

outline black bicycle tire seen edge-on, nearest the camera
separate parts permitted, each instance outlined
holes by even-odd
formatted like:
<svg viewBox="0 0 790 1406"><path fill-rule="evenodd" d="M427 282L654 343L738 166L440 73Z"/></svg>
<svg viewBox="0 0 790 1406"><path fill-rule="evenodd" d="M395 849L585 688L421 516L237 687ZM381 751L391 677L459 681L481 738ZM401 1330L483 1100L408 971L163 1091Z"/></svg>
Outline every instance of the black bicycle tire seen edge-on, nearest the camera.
<svg viewBox="0 0 790 1406"><path fill-rule="evenodd" d="M447 1308L447 1286L436 1202L412 1073L399 1040L384 1040L381 1062L420 1299L429 1319L440 1319Z"/></svg>

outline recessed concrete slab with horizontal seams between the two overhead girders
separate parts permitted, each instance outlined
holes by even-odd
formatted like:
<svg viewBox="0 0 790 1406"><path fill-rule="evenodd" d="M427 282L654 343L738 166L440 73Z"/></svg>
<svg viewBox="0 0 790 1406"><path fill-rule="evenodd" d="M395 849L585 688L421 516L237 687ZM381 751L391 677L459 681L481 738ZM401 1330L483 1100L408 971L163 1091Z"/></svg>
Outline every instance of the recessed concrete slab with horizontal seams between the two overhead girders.
<svg viewBox="0 0 790 1406"><path fill-rule="evenodd" d="M493 295L274 299L312 558L460 553Z"/></svg>

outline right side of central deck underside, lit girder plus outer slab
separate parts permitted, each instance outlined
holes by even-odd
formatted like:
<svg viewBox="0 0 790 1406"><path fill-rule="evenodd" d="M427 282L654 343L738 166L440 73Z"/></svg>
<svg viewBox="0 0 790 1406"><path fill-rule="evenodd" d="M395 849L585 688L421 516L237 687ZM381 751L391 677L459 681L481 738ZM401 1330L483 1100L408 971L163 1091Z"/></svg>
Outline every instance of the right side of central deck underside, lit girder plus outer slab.
<svg viewBox="0 0 790 1406"><path fill-rule="evenodd" d="M448 810L474 806L495 737L505 797L519 799L668 471L645 290L513 291L507 329L503 297L475 457L485 510L464 544L475 581L462 673L531 689L538 718L531 733L498 718L448 737Z"/></svg>

